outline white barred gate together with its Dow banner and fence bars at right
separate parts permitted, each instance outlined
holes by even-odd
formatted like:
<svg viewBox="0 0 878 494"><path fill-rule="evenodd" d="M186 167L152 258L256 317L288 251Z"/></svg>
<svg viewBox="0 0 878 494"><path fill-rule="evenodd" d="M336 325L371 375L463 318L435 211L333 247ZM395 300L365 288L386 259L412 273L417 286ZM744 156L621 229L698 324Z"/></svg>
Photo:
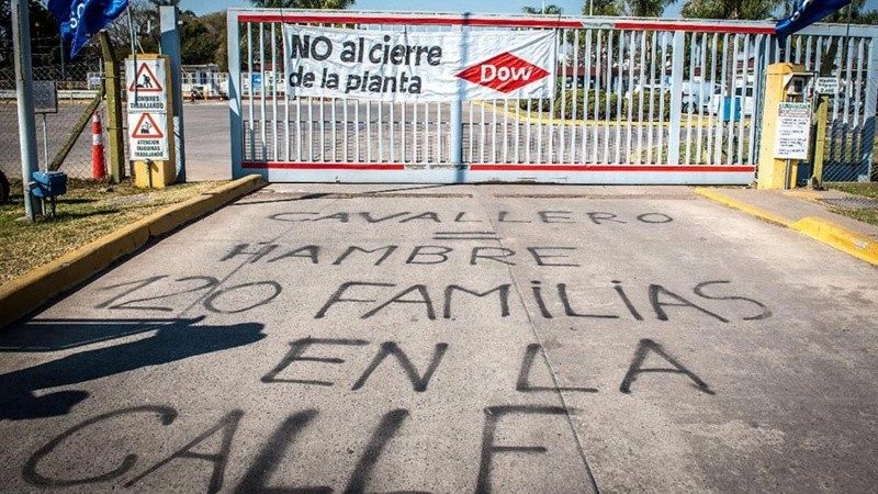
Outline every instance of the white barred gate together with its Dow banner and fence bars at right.
<svg viewBox="0 0 878 494"><path fill-rule="evenodd" d="M878 27L845 27L233 9L233 175L747 184L778 61L844 81L824 168L869 175Z"/></svg>

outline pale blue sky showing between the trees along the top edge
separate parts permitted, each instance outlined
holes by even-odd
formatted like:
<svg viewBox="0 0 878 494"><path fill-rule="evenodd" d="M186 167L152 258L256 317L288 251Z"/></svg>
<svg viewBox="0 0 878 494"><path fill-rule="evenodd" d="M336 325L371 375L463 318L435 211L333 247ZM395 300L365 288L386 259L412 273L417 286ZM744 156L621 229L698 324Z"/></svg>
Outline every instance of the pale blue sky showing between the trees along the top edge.
<svg viewBox="0 0 878 494"><path fill-rule="evenodd" d="M578 15L582 12L583 0L545 0L547 4L553 3L563 9L565 14ZM683 0L665 9L665 18L678 18ZM493 13L520 13L524 5L540 7L540 0L357 0L353 9L357 10L395 10L402 12L493 12ZM191 10L201 15L216 12L232 7L252 7L249 0L181 0L180 8ZM878 0L867 0L866 9L878 9Z"/></svg>

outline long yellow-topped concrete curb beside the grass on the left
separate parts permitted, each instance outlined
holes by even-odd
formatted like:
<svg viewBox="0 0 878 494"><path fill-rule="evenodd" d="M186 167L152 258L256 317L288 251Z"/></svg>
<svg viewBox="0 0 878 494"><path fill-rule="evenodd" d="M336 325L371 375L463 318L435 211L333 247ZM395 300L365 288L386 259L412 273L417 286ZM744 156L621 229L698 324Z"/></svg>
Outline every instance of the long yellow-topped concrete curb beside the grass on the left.
<svg viewBox="0 0 878 494"><path fill-rule="evenodd" d="M0 287L0 329L56 295L81 284L115 260L136 251L150 238L219 209L264 184L262 177L257 175L235 180L105 235Z"/></svg>

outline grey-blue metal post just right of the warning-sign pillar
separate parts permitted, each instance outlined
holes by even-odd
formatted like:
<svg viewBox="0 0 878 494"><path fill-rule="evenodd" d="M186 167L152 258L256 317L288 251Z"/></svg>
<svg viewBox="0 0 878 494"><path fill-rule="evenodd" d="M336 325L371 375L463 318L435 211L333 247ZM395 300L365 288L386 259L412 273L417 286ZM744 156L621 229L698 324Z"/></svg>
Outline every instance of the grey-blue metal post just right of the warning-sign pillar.
<svg viewBox="0 0 878 494"><path fill-rule="evenodd" d="M177 183L185 182L185 144L183 139L183 98L181 88L182 56L180 52L180 31L177 30L177 8L159 7L161 16L161 53L170 57L171 105L173 109L173 147L177 160Z"/></svg>

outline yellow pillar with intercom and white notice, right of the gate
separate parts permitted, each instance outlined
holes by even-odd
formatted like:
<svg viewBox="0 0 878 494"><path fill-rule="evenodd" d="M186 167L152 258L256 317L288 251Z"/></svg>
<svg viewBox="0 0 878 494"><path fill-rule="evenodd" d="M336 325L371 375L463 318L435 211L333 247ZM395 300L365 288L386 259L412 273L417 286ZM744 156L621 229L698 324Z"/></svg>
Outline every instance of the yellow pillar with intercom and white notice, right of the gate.
<svg viewBox="0 0 878 494"><path fill-rule="evenodd" d="M813 75L796 64L768 66L762 112L758 189L796 187L799 161L808 159Z"/></svg>

